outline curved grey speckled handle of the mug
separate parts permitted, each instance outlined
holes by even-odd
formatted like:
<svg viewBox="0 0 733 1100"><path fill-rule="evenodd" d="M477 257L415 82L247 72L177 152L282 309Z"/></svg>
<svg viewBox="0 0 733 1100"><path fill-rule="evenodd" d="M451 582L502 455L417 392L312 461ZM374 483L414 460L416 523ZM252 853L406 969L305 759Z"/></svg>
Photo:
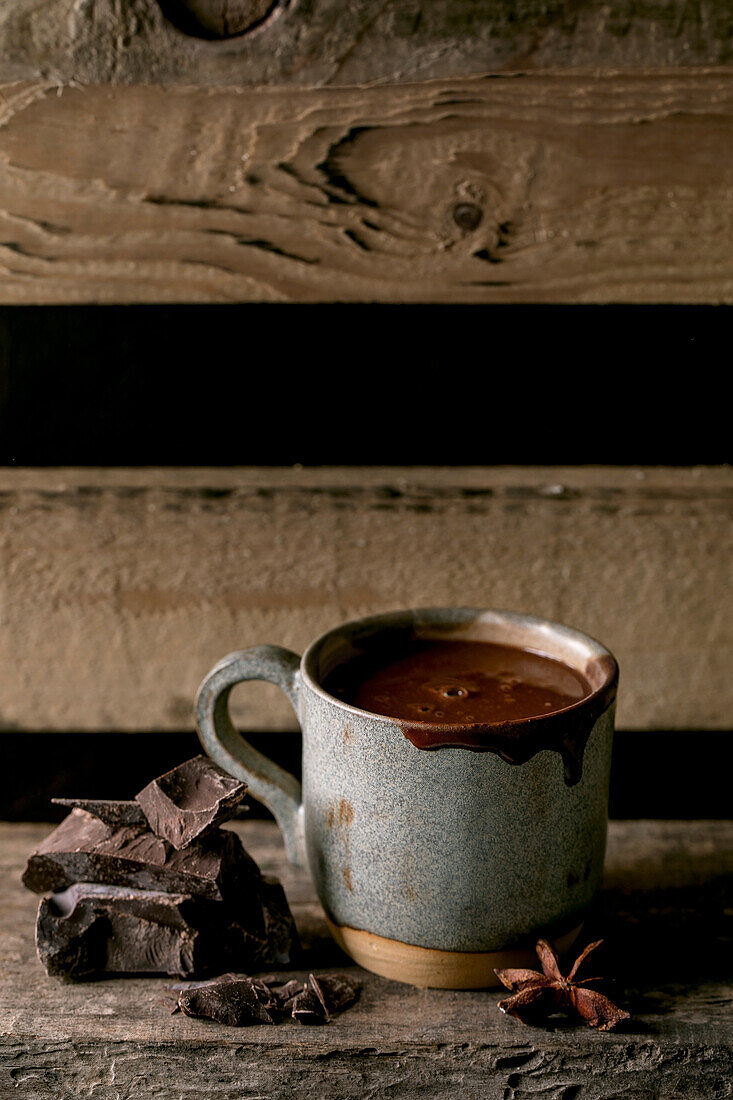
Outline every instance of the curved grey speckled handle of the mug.
<svg viewBox="0 0 733 1100"><path fill-rule="evenodd" d="M243 780L250 793L274 815L285 838L287 858L306 868L303 794L295 776L252 748L232 725L229 694L244 680L277 684L298 714L300 658L282 646L237 650L215 664L204 679L194 704L198 737L212 760Z"/></svg>

